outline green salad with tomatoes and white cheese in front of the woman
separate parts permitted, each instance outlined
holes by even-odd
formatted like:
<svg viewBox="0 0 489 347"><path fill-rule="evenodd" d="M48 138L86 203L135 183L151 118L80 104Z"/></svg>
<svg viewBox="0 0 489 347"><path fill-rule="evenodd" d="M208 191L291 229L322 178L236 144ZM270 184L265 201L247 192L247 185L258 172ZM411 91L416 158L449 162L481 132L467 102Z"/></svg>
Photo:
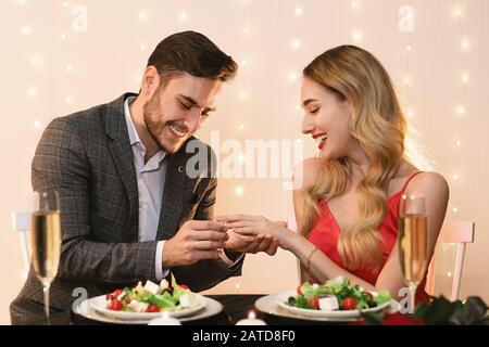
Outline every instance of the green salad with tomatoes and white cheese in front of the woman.
<svg viewBox="0 0 489 347"><path fill-rule="evenodd" d="M373 294L360 285L351 285L350 280L339 277L324 284L305 282L299 285L297 295L290 296L286 304L323 311L364 310L386 304L390 299L388 291Z"/></svg>

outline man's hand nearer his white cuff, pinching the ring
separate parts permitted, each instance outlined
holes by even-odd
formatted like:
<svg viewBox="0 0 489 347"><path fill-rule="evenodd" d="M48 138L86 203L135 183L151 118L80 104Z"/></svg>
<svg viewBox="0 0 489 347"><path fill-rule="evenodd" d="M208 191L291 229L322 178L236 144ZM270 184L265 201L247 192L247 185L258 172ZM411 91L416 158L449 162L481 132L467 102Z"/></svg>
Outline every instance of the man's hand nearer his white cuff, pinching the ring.
<svg viewBox="0 0 489 347"><path fill-rule="evenodd" d="M163 246L163 267L192 265L203 259L221 257L220 248L228 240L227 228L222 222L189 220Z"/></svg>

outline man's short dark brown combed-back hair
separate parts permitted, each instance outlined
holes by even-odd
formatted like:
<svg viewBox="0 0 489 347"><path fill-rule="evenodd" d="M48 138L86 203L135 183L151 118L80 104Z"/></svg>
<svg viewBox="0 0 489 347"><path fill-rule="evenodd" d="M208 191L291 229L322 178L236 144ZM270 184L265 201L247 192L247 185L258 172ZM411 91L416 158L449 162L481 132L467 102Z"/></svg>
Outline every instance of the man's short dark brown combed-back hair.
<svg viewBox="0 0 489 347"><path fill-rule="evenodd" d="M156 68L165 81L181 73L226 81L238 69L233 57L196 31L177 33L163 39L149 57L150 65Z"/></svg>

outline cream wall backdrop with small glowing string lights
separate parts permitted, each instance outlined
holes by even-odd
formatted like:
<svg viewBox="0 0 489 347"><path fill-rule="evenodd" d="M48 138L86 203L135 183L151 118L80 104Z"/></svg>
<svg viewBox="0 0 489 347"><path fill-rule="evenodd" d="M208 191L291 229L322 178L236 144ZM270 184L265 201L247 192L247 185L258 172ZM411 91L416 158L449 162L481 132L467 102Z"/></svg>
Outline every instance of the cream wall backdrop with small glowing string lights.
<svg viewBox="0 0 489 347"><path fill-rule="evenodd" d="M23 283L18 235L10 213L30 201L30 160L55 116L137 91L154 46L195 29L240 64L218 111L201 130L211 141L303 140L302 67L343 43L372 51L393 78L410 123L448 179L448 219L476 222L462 296L489 299L489 1L486 0L3 0L0 94L0 322ZM216 149L218 150L218 149ZM222 153L225 157L225 153ZM281 178L220 180L216 214L292 215ZM444 270L443 270L444 271ZM447 270L449 271L449 270ZM440 273L443 281L450 273ZM288 254L248 256L243 277L213 293L272 293L294 287Z"/></svg>

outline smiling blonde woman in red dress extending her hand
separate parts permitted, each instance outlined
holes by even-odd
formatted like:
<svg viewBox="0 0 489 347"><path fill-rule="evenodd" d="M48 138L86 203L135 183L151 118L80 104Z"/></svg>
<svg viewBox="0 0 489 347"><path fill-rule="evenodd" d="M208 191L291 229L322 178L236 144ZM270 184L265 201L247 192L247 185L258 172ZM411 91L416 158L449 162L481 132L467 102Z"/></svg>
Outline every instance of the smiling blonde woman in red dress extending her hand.
<svg viewBox="0 0 489 347"><path fill-rule="evenodd" d="M421 172L404 151L406 124L389 75L371 53L341 46L303 70L302 132L319 157L303 162L293 203L299 234L256 216L223 216L234 232L272 235L301 261L302 280L342 275L368 291L405 287L397 244L402 194L423 194L432 255L449 188L436 172ZM296 185L298 187L298 185ZM416 300L428 300L425 281Z"/></svg>

